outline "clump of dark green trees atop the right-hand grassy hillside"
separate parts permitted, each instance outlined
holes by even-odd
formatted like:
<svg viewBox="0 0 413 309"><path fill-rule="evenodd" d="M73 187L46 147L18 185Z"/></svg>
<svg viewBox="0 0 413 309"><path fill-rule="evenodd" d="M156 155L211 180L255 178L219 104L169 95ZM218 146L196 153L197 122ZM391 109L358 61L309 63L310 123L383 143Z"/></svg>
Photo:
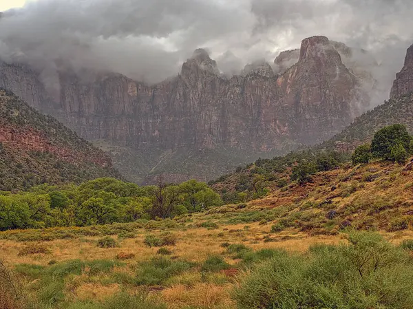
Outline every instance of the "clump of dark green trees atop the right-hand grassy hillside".
<svg viewBox="0 0 413 309"><path fill-rule="evenodd" d="M379 158L399 164L405 164L413 154L413 138L405 125L390 125L374 134L371 144L357 147L352 154L353 164L368 163L372 158Z"/></svg>

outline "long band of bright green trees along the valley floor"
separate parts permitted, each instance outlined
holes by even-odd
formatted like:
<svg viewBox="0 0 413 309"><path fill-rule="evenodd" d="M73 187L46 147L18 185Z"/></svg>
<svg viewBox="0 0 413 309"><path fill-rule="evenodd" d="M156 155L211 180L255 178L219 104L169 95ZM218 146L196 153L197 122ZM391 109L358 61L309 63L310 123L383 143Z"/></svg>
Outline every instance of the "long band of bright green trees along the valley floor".
<svg viewBox="0 0 413 309"><path fill-rule="evenodd" d="M176 185L160 178L147 187L114 178L79 186L43 184L30 191L0 192L0 231L165 219L221 204L220 195L196 180Z"/></svg>

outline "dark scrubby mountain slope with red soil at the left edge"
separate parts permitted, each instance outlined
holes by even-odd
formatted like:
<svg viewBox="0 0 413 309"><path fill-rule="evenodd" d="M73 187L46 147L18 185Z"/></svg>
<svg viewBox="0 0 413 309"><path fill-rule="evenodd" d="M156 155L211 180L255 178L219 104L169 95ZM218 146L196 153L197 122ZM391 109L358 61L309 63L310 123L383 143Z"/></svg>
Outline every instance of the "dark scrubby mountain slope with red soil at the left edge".
<svg viewBox="0 0 413 309"><path fill-rule="evenodd" d="M118 175L106 153L0 88L0 190Z"/></svg>

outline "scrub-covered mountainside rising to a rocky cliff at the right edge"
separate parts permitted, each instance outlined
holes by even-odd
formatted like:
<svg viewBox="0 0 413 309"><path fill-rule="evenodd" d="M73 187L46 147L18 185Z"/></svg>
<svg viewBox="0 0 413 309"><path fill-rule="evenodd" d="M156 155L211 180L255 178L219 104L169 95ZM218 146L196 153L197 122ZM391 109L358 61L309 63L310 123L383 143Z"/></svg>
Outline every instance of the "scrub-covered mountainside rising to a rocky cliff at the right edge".
<svg viewBox="0 0 413 309"><path fill-rule="evenodd" d="M407 50L403 69L396 74L390 100L356 118L322 147L353 151L358 145L369 142L379 129L395 123L406 125L413 134L413 45Z"/></svg>

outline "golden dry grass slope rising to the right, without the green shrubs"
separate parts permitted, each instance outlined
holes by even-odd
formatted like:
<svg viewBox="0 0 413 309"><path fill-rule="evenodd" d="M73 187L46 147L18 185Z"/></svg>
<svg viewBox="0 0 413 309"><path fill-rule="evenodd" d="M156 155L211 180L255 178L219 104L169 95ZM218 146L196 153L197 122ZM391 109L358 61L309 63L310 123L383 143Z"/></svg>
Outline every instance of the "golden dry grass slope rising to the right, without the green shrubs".
<svg viewBox="0 0 413 309"><path fill-rule="evenodd" d="M3 239L0 240L0 258L25 275L25 287L34 294L41 288L36 286L36 280L43 277L36 270L38 266L22 264L40 265L45 270L53 267L48 265L50 263L64 268L65 263L74 259L109 265L107 268L99 266L105 269L97 274L87 266L81 273L67 277L63 286L66 301L101 301L122 289L136 290L136 280L145 277L140 273L144 271L142 269L149 269L147 263L151 264L153 257L160 257L158 248L145 246L146 235L161 237L162 233L170 232L178 239L176 245L167 247L172 251L171 261L184 261L184 264L174 264L173 267L183 267L184 270L164 274L158 283L147 283L143 287L150 291L150 295L167 303L168 308L232 309L235 303L230 291L237 282L233 276L240 273L243 262L239 264L240 260L222 244L244 244L254 251L286 248L302 252L319 242L344 242L346 230L343 227L348 224L358 229L379 230L398 244L413 237L410 215L413 213L412 175L410 163L403 167L388 162L357 167L347 165L317 173L313 183L303 186L297 183L283 189L273 186L271 193L262 200L225 205L175 220L8 231L0 233L0 239ZM226 181L230 182L231 178ZM282 228L274 230L274 225ZM125 232L131 238L123 237ZM118 246L97 248L97 239L104 235L112 235ZM28 244L23 241L27 240L35 244L47 241L49 252L19 255ZM134 256L123 264L116 264L116 255L120 253L133 253ZM229 264L225 268L229 269L202 271L204 261L211 254L222 257ZM96 262L96 259L105 262ZM151 273L150 277L153 276L158 275Z"/></svg>

